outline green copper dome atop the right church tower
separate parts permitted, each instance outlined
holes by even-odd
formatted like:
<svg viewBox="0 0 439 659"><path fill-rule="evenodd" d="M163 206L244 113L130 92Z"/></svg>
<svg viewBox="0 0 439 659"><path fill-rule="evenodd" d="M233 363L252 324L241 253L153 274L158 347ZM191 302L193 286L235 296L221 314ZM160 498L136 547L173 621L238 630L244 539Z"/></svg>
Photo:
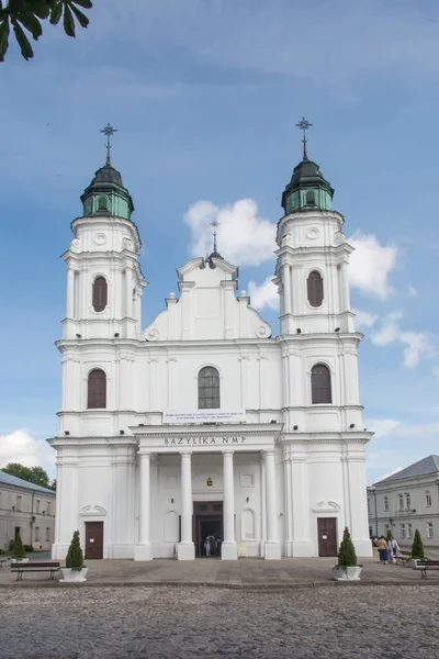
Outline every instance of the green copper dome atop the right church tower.
<svg viewBox="0 0 439 659"><path fill-rule="evenodd" d="M291 181L282 194L282 206L285 215L304 211L330 211L333 209L334 189L323 177L318 165L313 160L308 160L305 154L302 163L294 167Z"/></svg>

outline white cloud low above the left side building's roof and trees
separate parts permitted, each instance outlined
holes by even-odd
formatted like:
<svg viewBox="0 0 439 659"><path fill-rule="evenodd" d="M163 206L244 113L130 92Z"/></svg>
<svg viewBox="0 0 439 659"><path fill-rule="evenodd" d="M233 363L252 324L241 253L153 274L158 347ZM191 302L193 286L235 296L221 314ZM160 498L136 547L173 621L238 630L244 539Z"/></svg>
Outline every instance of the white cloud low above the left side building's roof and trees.
<svg viewBox="0 0 439 659"><path fill-rule="evenodd" d="M0 468L8 462L20 462L25 467L43 467L54 472L56 451L45 440L36 440L23 429L0 435Z"/></svg>

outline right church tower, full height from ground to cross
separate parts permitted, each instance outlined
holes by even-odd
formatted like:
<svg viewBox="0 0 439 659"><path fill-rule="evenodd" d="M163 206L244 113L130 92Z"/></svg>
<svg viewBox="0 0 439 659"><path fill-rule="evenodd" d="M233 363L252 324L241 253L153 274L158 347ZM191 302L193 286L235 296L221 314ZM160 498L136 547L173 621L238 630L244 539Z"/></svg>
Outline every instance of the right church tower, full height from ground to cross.
<svg viewBox="0 0 439 659"><path fill-rule="evenodd" d="M297 124L303 158L282 194L284 215L278 223L275 252L284 478L288 495L301 501L286 520L286 555L309 556L315 530L318 546L328 537L326 518L339 515L338 501L344 502L344 525L359 554L367 556L362 493L364 445L371 433L363 428L358 388L361 334L354 332L349 301L347 268L353 248L342 234L344 216L333 210L334 189L308 158L305 132L311 125L304 118ZM331 490L334 500L328 500ZM317 529L308 529L308 510L322 520Z"/></svg>

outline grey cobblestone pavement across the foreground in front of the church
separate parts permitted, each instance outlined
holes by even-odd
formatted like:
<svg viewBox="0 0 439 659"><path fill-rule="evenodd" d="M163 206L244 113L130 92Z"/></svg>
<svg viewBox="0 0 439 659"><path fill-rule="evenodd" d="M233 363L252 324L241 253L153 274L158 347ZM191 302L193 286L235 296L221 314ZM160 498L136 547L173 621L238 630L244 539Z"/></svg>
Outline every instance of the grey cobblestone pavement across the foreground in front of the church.
<svg viewBox="0 0 439 659"><path fill-rule="evenodd" d="M439 588L2 589L0 657L435 659Z"/></svg>

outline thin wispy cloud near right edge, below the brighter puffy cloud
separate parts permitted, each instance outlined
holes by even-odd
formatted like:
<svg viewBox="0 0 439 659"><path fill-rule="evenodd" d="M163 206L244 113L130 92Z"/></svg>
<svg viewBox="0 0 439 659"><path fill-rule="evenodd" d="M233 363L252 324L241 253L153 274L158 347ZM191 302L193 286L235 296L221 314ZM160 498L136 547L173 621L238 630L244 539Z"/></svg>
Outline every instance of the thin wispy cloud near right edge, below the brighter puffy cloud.
<svg viewBox="0 0 439 659"><path fill-rule="evenodd" d="M397 322L401 317L401 311L387 314L380 330L372 334L372 343L378 346L392 343L402 344L404 346L403 364L406 368L414 368L420 359L436 355L435 337L430 332L403 331Z"/></svg>

